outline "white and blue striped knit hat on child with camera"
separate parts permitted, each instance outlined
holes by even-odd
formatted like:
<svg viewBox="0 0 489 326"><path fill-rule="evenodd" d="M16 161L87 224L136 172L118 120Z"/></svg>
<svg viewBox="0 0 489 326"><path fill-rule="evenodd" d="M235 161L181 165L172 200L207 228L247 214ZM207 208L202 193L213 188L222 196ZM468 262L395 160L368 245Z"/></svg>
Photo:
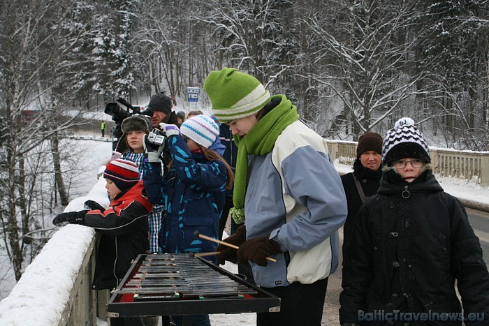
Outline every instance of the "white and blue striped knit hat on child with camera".
<svg viewBox="0 0 489 326"><path fill-rule="evenodd" d="M219 136L219 126L211 117L199 114L187 119L180 127L180 133L197 144L209 148Z"/></svg>

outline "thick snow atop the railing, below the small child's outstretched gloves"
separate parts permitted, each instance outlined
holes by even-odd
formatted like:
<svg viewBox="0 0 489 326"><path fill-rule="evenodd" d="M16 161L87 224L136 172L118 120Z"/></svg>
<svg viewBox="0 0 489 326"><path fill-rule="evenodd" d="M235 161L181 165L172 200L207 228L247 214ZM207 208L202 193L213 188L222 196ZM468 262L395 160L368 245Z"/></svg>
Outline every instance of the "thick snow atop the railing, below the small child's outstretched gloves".
<svg viewBox="0 0 489 326"><path fill-rule="evenodd" d="M0 325L58 325L94 233L81 225L56 232L0 302Z"/></svg>

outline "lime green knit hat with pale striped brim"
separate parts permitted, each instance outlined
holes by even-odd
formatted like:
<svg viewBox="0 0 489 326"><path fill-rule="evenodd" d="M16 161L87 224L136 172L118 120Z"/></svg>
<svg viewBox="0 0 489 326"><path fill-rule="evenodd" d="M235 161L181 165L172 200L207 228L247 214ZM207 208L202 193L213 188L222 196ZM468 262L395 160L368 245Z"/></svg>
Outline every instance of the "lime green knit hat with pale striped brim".
<svg viewBox="0 0 489 326"><path fill-rule="evenodd" d="M205 78L204 90L221 123L249 117L270 102L270 93L261 82L234 68L212 71Z"/></svg>

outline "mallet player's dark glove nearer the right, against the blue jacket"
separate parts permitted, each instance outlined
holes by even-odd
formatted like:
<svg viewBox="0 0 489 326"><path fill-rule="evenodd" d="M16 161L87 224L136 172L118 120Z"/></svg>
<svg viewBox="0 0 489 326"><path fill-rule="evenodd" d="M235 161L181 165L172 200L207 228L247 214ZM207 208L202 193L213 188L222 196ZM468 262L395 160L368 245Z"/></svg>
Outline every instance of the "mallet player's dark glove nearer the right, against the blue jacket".
<svg viewBox="0 0 489 326"><path fill-rule="evenodd" d="M277 242L270 240L270 235L266 237L256 237L244 242L238 249L238 262L245 265L248 261L254 262L259 266L268 265L265 257L282 253L280 245Z"/></svg>

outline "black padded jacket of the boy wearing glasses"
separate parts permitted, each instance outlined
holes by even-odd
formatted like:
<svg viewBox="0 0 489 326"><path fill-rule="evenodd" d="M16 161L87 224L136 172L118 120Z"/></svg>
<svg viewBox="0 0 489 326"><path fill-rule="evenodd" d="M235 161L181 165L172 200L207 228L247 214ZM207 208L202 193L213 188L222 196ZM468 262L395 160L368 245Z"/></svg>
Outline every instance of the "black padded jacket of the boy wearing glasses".
<svg viewBox="0 0 489 326"><path fill-rule="evenodd" d="M342 324L358 323L358 311L458 313L457 281L465 316L485 313L486 321L466 325L489 325L489 273L479 239L465 209L430 170L411 184L394 170L384 172L377 195L355 218L342 278Z"/></svg>

